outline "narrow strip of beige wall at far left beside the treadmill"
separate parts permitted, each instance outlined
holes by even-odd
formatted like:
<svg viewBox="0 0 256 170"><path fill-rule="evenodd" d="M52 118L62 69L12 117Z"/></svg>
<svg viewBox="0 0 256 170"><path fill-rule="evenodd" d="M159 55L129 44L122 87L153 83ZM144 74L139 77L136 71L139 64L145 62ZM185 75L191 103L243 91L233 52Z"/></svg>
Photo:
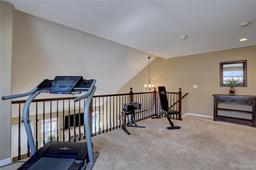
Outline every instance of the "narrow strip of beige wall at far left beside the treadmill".
<svg viewBox="0 0 256 170"><path fill-rule="evenodd" d="M13 6L0 1L0 96L10 95L12 83L12 17ZM0 99L0 166L12 162L11 157L11 101Z"/></svg>

